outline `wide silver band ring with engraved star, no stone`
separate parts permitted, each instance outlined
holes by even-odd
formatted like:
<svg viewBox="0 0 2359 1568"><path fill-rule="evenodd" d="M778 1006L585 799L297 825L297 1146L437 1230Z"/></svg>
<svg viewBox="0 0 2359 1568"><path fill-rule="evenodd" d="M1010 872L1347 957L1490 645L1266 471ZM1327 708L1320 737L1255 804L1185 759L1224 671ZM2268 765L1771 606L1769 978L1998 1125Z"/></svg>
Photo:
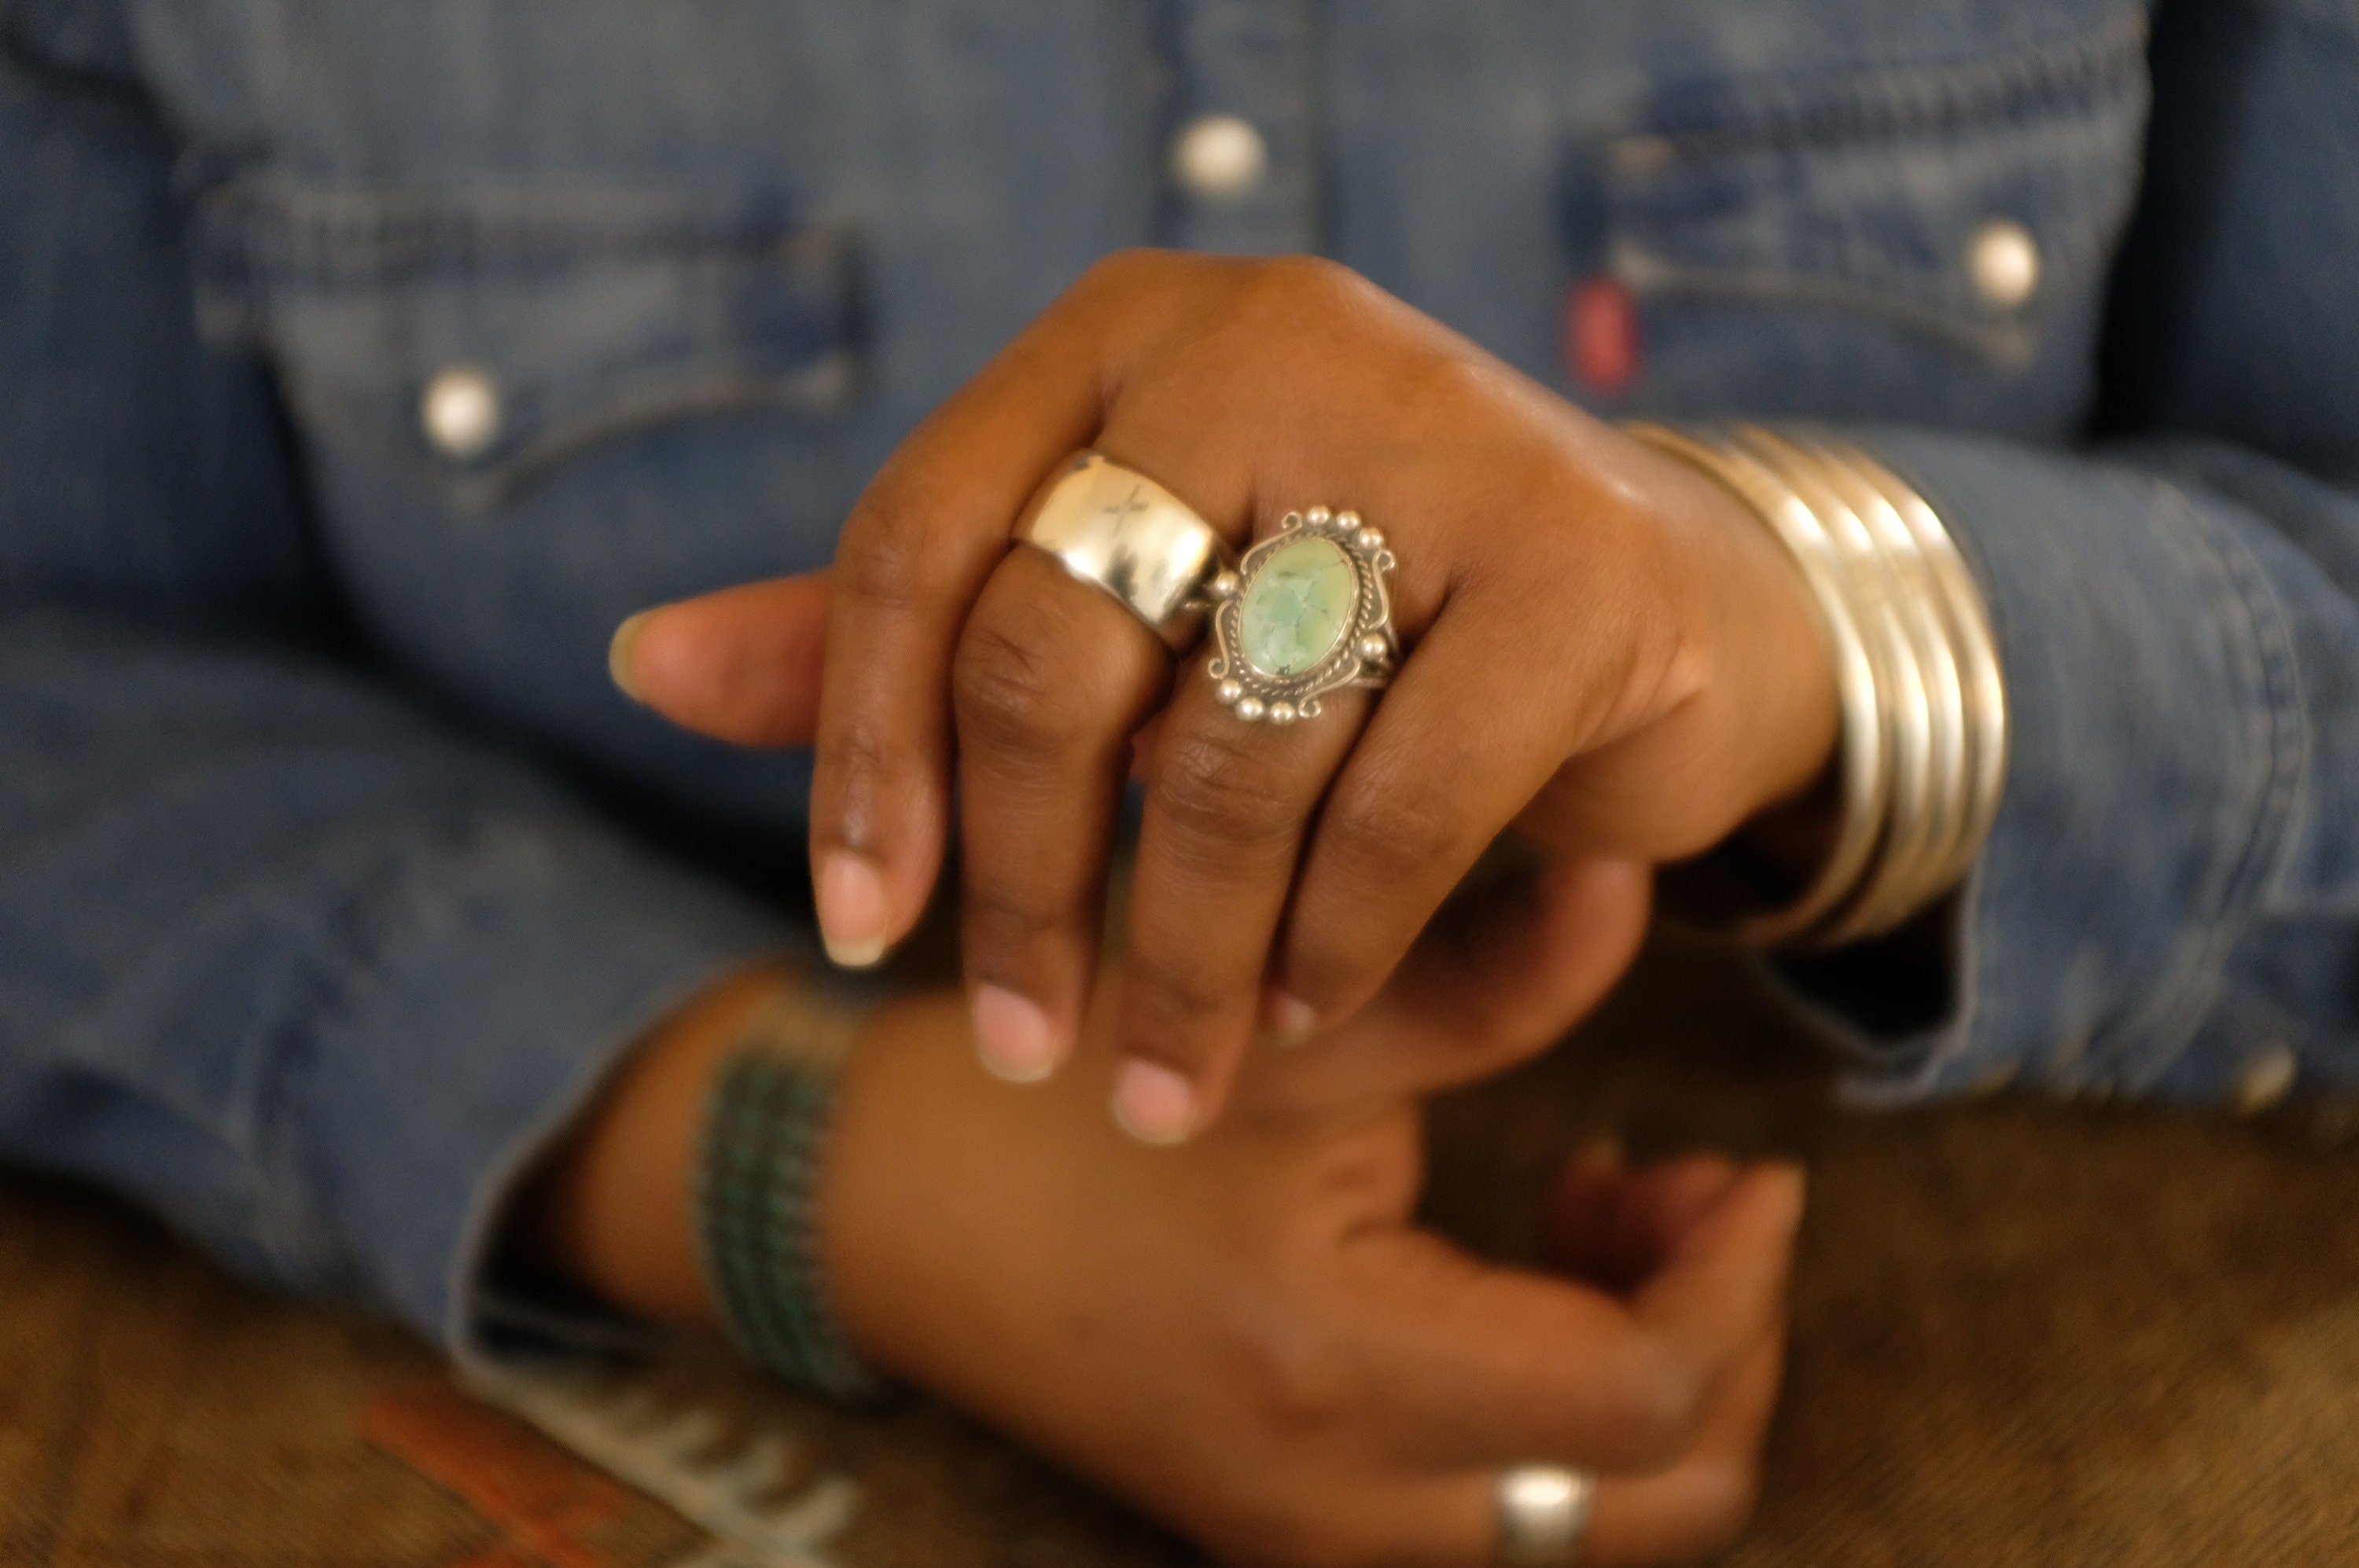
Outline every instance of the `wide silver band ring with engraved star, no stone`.
<svg viewBox="0 0 2359 1568"><path fill-rule="evenodd" d="M1104 453L1076 453L1057 469L1014 535L1113 594L1175 653L1203 637L1203 587L1229 559L1229 545L1184 500Z"/></svg>

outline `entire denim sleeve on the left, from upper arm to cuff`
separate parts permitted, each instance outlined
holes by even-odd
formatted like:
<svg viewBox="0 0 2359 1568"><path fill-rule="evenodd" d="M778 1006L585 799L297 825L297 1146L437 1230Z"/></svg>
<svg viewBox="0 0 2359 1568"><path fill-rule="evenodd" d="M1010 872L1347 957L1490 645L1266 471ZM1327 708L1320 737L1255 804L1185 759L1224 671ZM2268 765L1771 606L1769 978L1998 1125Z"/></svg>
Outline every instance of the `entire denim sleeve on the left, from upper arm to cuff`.
<svg viewBox="0 0 2359 1568"><path fill-rule="evenodd" d="M54 7L52 7L54 9ZM797 943L354 651L104 28L0 5L0 1158L467 1351L524 1165ZM85 9L59 9L85 17Z"/></svg>

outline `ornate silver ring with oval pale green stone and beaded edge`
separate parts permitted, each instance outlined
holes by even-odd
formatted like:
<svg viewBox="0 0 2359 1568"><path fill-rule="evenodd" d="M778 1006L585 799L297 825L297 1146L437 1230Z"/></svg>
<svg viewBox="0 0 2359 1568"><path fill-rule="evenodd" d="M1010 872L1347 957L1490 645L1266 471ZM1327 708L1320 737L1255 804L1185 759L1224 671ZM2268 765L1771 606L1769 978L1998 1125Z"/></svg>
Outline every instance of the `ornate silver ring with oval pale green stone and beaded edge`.
<svg viewBox="0 0 2359 1568"><path fill-rule="evenodd" d="M1392 630L1392 547L1359 512L1288 512L1236 571L1205 585L1220 653L1213 696L1238 719L1316 719L1342 686L1385 686L1401 663Z"/></svg>

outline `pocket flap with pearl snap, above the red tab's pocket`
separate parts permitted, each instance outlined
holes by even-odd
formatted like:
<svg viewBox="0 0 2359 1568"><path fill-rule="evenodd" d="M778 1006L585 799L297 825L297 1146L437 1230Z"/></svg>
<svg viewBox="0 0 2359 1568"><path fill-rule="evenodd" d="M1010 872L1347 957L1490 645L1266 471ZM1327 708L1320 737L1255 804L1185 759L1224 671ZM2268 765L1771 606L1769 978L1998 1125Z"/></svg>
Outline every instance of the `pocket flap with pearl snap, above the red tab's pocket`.
<svg viewBox="0 0 2359 1568"><path fill-rule="evenodd" d="M2102 285L2135 196L2144 19L1991 59L1658 97L1597 158L1637 295L1880 316L2000 363Z"/></svg>

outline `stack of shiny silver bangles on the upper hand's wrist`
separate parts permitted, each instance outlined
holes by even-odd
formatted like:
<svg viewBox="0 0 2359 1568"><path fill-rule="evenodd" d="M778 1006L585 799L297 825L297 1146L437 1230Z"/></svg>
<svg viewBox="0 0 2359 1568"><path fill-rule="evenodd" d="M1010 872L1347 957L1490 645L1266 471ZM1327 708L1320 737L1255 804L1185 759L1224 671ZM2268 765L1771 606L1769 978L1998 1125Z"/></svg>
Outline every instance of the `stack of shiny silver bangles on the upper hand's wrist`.
<svg viewBox="0 0 2359 1568"><path fill-rule="evenodd" d="M1816 875L1772 894L1715 851L1665 877L1670 913L1750 946L1833 948L1899 927L1965 877L2008 771L1998 641L1956 542L1925 498L1833 436L1625 429L1734 490L1786 545L1842 703L1842 813Z"/></svg>

